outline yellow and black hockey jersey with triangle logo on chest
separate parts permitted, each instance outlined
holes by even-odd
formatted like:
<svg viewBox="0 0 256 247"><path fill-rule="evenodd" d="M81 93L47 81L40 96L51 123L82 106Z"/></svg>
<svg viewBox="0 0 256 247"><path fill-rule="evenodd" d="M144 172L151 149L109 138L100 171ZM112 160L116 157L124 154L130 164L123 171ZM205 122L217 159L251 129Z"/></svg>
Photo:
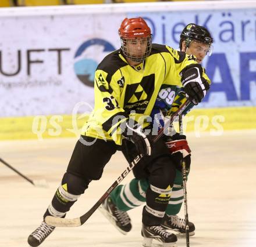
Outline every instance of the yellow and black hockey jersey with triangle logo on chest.
<svg viewBox="0 0 256 247"><path fill-rule="evenodd" d="M194 56L165 45L152 44L150 56L134 67L120 50L112 52L95 71L94 110L83 135L121 145L120 123L132 117L147 126L161 86L182 86L180 72L190 64L197 64ZM204 72L202 76L210 83Z"/></svg>

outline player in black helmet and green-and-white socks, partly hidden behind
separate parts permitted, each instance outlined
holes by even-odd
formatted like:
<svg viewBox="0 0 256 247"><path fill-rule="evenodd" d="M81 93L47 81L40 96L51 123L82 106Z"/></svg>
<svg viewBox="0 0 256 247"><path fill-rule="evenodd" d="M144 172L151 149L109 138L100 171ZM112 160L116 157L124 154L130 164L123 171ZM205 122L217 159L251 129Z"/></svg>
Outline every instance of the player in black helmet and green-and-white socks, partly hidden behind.
<svg viewBox="0 0 256 247"><path fill-rule="evenodd" d="M180 34L180 50L188 55L197 57L198 63L201 63L205 56L211 56L213 38L207 28L190 23L184 27ZM157 101L151 112L152 120L162 126L166 112L173 114L186 101L186 95L183 88L176 85L162 84L159 90ZM194 106L190 104L184 115ZM154 121L152 121L154 124ZM173 160L176 164L176 177L172 187L170 197L166 194L159 194L159 200L169 201L163 217L162 227L168 230L176 231L178 237L184 237L186 234L185 219L177 216L183 203L183 184L181 172L181 160L186 162L187 176L190 172L190 148L187 144L186 136L176 133L170 137L164 137L166 146L169 147ZM134 147L127 143L129 147L123 147L125 157L130 162L134 158ZM125 145L123 145L125 146ZM111 195L102 203L99 208L107 219L123 234L131 230L131 219L127 213L128 210L144 205L145 195L150 190L147 169L150 164L140 162L133 168L134 179L126 184L120 184ZM156 196L157 198L157 196ZM147 205L146 205L147 207ZM195 226L189 222L189 234L194 235Z"/></svg>

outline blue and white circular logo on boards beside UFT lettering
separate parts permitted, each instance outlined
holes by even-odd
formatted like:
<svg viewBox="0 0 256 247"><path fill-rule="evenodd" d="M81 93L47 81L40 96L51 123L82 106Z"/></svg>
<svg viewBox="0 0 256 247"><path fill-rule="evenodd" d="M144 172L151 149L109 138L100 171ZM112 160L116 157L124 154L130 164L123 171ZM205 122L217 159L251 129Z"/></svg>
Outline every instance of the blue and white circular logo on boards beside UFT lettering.
<svg viewBox="0 0 256 247"><path fill-rule="evenodd" d="M94 72L99 62L115 47L104 39L89 39L82 43L74 55L74 72L87 86L94 86Z"/></svg>

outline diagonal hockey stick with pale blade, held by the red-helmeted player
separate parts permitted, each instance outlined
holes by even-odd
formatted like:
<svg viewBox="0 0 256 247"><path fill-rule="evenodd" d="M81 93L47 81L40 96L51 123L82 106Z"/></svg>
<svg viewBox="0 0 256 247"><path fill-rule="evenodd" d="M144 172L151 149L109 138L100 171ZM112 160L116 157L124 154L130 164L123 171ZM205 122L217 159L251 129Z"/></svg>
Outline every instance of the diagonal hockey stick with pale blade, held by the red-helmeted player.
<svg viewBox="0 0 256 247"><path fill-rule="evenodd" d="M189 106L191 103L191 100L188 99L185 103L180 106L179 110L177 110L166 122L166 124L163 126L162 129L158 131L158 135L155 136L154 142L156 142L163 133L169 128L170 124L172 124L173 120L178 117L182 112ZM95 212L95 210L104 202L104 200L108 197L109 194L111 194L112 190L118 186L118 184L126 177L126 175L133 169L133 167L138 164L138 162L143 158L143 155L139 154L136 158L129 164L129 166L124 170L124 172L118 177L118 179L112 184L111 187L105 192L104 195L102 195L101 198L96 202L96 204L93 205L93 207L88 210L84 215L75 218L75 219L65 219L60 217L54 217L54 216L46 216L45 217L45 223L49 224L50 226L54 227L78 227L82 224L86 223L86 221L89 219L91 215Z"/></svg>

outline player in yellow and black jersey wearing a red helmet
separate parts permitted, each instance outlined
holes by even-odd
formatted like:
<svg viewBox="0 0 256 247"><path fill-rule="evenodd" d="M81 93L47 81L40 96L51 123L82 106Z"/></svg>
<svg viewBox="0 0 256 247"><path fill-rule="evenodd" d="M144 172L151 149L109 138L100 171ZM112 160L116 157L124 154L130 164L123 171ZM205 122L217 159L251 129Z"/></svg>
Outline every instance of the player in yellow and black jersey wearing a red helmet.
<svg viewBox="0 0 256 247"><path fill-rule="evenodd" d="M197 104L204 98L210 81L194 56L152 44L151 30L141 17L123 20L119 37L121 48L106 56L95 71L94 110L43 219L48 215L65 217L88 184L101 178L104 166L120 150L122 140L128 139L138 154L148 156L152 162L152 190L146 195L148 208L143 209L142 229L147 232L143 234L144 242L155 236L169 247L175 245L177 237L161 226L168 203L153 201L155 191L170 193L176 168L165 141L153 143L151 133L144 128L152 120L151 111L163 84L183 86ZM158 179L160 174L165 176ZM29 235L29 245L40 245L52 231L54 227L43 220Z"/></svg>

